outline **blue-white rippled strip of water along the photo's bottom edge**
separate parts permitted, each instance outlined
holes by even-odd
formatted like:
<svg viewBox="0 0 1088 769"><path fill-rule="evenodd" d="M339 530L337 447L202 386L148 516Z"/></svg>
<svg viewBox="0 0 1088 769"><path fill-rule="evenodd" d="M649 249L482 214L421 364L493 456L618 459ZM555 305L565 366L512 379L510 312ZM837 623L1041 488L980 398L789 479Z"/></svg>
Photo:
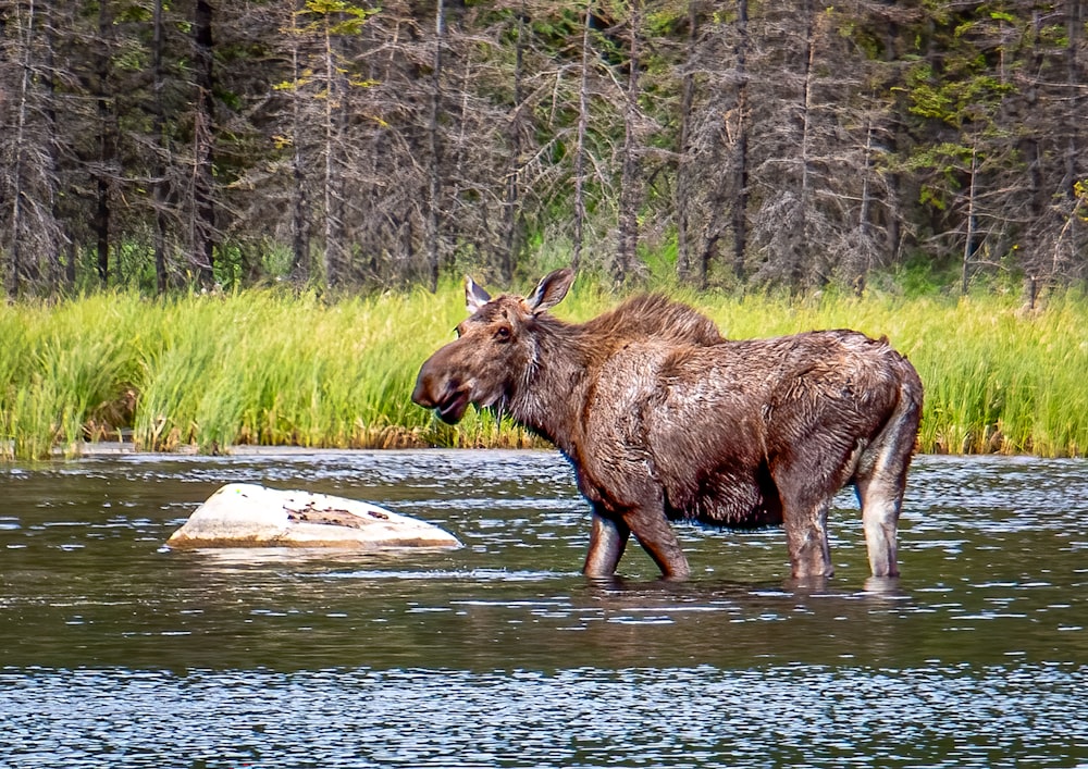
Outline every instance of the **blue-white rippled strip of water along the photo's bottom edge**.
<svg viewBox="0 0 1088 769"><path fill-rule="evenodd" d="M209 769L1048 767L1088 759L1088 727L1077 716L1088 680L1074 663L39 669L33 677L4 669L0 684L0 747L15 767L180 759ZM114 696L97 698L106 686ZM86 708L92 697L96 706ZM60 722L62 733L53 728Z"/></svg>

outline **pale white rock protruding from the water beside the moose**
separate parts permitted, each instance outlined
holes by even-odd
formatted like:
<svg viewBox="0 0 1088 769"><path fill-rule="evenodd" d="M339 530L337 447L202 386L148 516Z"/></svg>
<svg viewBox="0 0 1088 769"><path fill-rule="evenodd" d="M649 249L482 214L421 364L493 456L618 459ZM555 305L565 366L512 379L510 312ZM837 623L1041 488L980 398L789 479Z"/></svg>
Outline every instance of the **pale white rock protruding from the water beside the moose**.
<svg viewBox="0 0 1088 769"><path fill-rule="evenodd" d="M424 521L327 494L231 483L170 535L170 547L460 547Z"/></svg>

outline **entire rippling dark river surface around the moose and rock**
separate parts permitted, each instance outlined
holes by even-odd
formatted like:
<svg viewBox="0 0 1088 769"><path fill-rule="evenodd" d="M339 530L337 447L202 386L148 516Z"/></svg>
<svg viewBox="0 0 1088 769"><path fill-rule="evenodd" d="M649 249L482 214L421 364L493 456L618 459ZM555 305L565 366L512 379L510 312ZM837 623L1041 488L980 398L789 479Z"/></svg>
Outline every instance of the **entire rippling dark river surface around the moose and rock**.
<svg viewBox="0 0 1088 769"><path fill-rule="evenodd" d="M465 547L164 549L231 481ZM833 519L826 586L694 526L691 582L595 584L551 452L0 468L0 766L1088 767L1088 462L919 458L897 582Z"/></svg>

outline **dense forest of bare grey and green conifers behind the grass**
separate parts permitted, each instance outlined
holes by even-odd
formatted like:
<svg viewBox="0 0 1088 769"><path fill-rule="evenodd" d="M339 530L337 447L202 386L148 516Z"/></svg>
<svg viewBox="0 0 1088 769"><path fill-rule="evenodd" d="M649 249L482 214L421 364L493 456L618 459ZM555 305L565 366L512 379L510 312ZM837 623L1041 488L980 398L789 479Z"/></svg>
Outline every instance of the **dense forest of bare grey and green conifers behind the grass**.
<svg viewBox="0 0 1088 769"><path fill-rule="evenodd" d="M10 298L1088 266L1081 0L4 0Z"/></svg>

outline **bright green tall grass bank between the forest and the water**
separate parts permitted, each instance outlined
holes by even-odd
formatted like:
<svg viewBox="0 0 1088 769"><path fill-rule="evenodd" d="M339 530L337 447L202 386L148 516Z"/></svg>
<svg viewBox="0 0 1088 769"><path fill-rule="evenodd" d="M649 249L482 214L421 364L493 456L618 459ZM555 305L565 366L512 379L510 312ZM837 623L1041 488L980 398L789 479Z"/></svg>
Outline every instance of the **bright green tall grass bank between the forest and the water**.
<svg viewBox="0 0 1088 769"><path fill-rule="evenodd" d="M816 327L887 335L926 384L926 452L1088 452L1088 299L1036 313L1012 298L824 296L800 302L680 294L732 337ZM584 320L616 302L576 285ZM411 404L419 364L453 338L460 287L324 303L248 292L147 300L100 294L0 308L0 457L131 435L137 448L523 446L469 412L456 430Z"/></svg>

